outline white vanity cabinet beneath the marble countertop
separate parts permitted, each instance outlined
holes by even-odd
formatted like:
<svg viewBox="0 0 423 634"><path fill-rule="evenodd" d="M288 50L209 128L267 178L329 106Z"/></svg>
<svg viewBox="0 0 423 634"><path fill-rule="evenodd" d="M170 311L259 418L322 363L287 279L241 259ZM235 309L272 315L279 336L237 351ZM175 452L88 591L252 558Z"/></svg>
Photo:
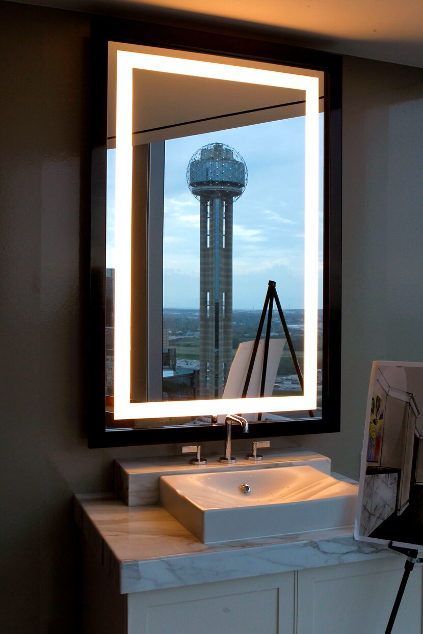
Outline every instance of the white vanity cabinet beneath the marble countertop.
<svg viewBox="0 0 423 634"><path fill-rule="evenodd" d="M119 595L89 551L84 634L383 634L405 562L389 557ZM410 574L393 634L422 634L422 570Z"/></svg>

